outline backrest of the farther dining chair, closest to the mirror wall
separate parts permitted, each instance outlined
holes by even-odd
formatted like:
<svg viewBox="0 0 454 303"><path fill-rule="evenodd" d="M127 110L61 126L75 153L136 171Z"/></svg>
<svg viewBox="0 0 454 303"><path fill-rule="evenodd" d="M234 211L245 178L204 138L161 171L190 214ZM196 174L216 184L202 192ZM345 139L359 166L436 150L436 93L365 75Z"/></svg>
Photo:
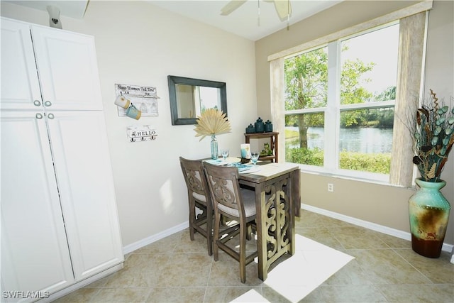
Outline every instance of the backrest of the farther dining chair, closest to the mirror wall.
<svg viewBox="0 0 454 303"><path fill-rule="evenodd" d="M189 160L179 157L188 194L202 202L211 202L209 187L206 184L204 165L201 160Z"/></svg>

